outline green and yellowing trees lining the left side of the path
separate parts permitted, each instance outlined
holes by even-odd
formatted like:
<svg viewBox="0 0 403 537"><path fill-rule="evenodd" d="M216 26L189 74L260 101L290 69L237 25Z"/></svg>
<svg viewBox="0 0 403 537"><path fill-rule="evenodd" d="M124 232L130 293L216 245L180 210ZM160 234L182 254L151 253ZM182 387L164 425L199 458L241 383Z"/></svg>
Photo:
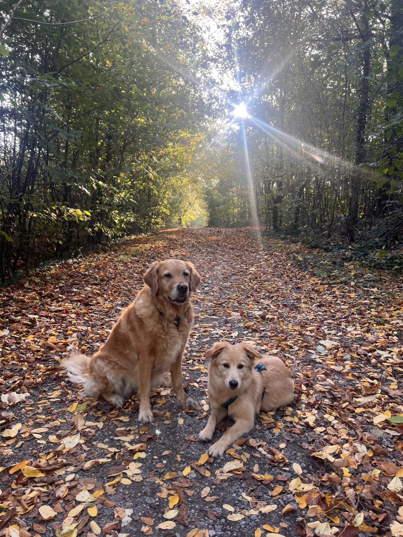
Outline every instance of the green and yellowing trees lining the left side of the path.
<svg viewBox="0 0 403 537"><path fill-rule="evenodd" d="M170 66L200 70L205 49L175 2L26 3L3 37L3 281L21 260L203 213L186 169L208 105Z"/></svg>

